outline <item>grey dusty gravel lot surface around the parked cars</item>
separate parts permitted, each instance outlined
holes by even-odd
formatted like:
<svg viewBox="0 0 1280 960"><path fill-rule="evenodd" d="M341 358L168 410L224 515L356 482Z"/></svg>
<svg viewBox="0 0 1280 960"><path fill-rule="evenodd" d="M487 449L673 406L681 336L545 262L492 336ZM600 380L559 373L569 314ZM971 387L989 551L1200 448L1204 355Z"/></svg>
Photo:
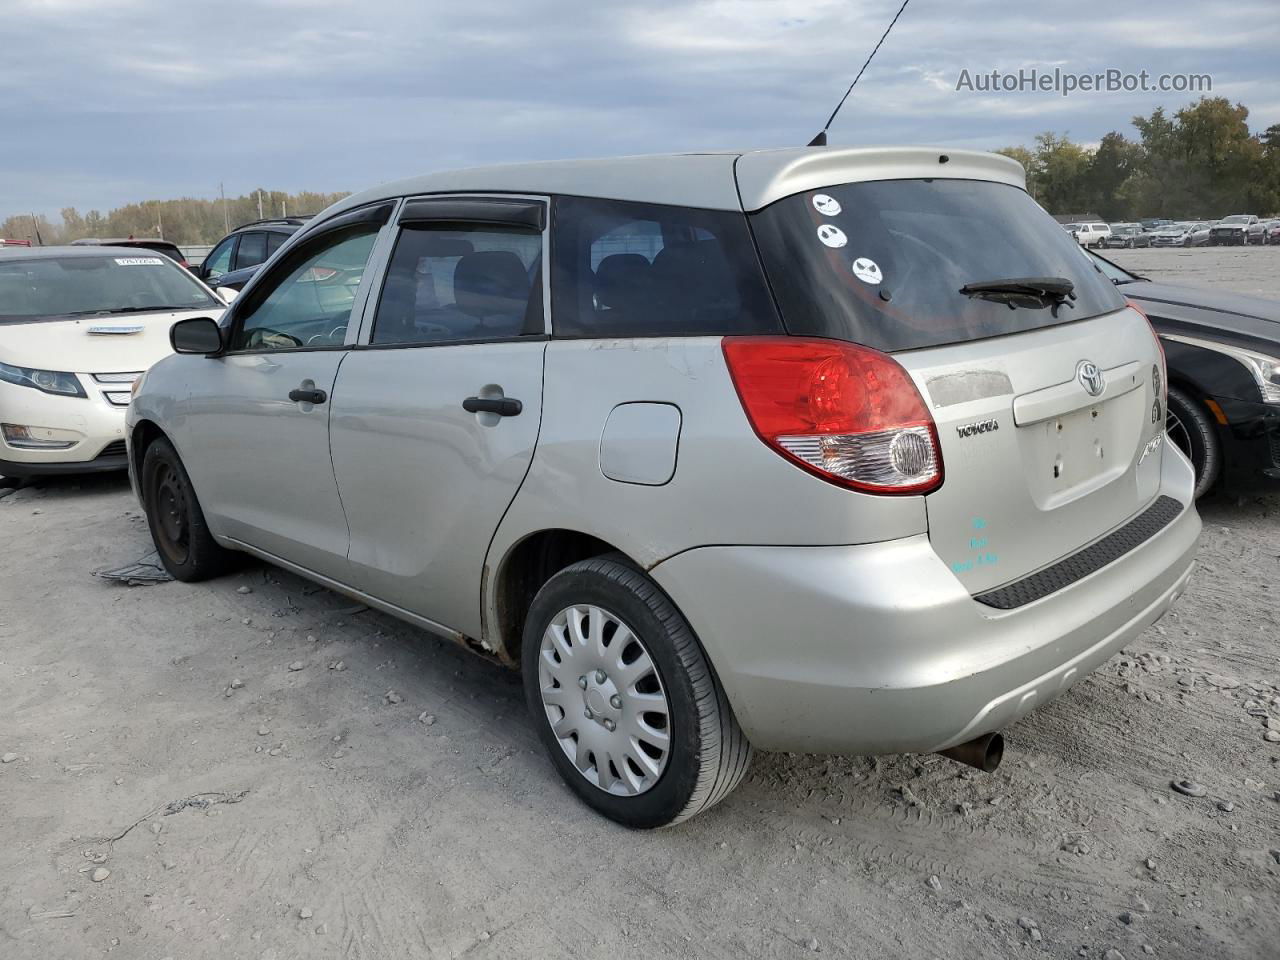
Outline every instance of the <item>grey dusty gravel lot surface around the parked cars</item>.
<svg viewBox="0 0 1280 960"><path fill-rule="evenodd" d="M1280 251L1240 256L1117 259L1277 293ZM1189 594L997 773L759 755L636 833L559 783L515 676L261 564L97 580L150 550L127 484L20 489L0 957L1280 956L1280 495L1202 515Z"/></svg>

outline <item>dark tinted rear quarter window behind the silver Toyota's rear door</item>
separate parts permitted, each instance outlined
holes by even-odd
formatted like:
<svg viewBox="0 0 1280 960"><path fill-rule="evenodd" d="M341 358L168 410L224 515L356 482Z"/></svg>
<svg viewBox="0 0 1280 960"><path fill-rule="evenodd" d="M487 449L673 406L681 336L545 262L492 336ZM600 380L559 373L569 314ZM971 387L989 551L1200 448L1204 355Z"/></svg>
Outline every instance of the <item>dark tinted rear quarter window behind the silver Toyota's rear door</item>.
<svg viewBox="0 0 1280 960"><path fill-rule="evenodd" d="M778 333L746 218L718 210L558 197L557 337Z"/></svg>

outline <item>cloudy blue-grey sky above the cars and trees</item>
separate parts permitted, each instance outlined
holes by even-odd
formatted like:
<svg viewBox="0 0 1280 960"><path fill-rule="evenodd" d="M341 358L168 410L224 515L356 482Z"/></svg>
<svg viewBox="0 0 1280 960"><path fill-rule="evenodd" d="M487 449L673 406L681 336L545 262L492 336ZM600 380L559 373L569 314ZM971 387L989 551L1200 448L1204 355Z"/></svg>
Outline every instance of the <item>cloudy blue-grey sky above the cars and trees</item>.
<svg viewBox="0 0 1280 960"><path fill-rule="evenodd" d="M800 145L900 0L0 0L0 219L358 189L479 163ZM1208 73L1280 123L1280 3L911 0L832 143L1097 141L1187 93L956 91Z"/></svg>

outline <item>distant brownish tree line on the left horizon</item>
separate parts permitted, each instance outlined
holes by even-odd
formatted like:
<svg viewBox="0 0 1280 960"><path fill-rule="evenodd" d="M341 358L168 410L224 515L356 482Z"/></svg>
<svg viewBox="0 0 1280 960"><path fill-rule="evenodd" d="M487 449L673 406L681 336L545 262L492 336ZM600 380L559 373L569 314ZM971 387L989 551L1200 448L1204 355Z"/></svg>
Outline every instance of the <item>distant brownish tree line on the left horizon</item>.
<svg viewBox="0 0 1280 960"><path fill-rule="evenodd" d="M215 243L248 220L262 216L319 214L347 193L284 193L274 189L253 191L239 197L219 200L147 200L125 204L105 214L65 207L54 223L44 215L15 214L0 223L0 238L29 239L32 243L70 243L84 237L116 239L120 237L164 237L179 244ZM261 207L259 204L261 202Z"/></svg>

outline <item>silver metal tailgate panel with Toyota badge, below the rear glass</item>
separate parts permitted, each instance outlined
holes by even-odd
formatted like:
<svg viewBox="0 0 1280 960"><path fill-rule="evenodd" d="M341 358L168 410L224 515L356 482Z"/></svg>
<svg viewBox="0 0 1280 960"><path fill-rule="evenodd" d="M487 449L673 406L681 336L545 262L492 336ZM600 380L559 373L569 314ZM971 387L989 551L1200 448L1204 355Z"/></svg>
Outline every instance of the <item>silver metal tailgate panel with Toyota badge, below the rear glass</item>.
<svg viewBox="0 0 1280 960"><path fill-rule="evenodd" d="M942 448L929 538L970 593L1074 553L1155 498L1158 355L1137 311L896 358Z"/></svg>

